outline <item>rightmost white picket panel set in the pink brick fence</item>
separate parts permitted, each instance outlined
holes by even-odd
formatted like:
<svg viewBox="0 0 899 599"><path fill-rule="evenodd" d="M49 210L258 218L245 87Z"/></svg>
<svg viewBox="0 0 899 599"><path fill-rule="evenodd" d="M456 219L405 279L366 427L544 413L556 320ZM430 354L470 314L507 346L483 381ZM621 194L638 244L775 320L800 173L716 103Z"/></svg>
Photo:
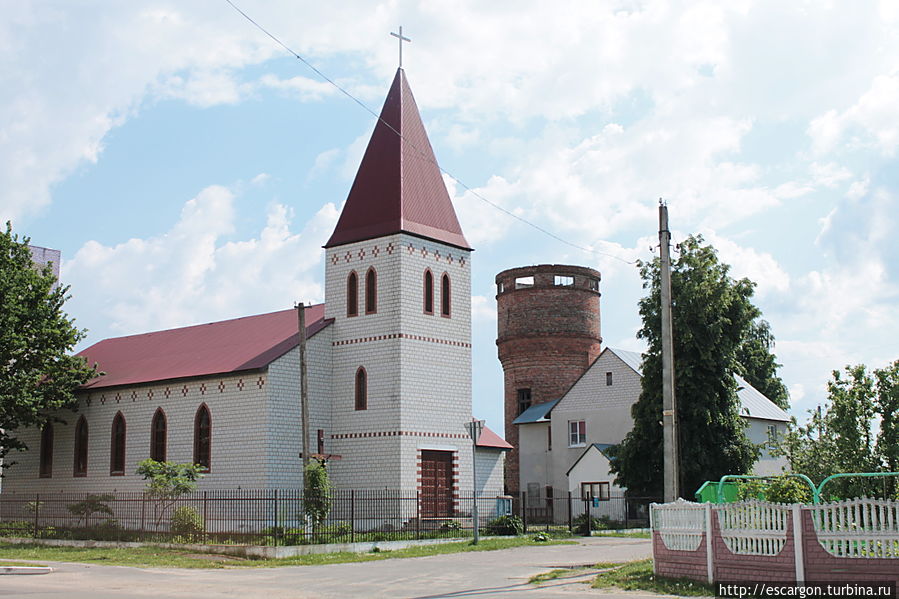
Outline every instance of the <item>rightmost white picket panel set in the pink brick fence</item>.
<svg viewBox="0 0 899 599"><path fill-rule="evenodd" d="M854 499L804 509L831 555L899 559L899 502Z"/></svg>

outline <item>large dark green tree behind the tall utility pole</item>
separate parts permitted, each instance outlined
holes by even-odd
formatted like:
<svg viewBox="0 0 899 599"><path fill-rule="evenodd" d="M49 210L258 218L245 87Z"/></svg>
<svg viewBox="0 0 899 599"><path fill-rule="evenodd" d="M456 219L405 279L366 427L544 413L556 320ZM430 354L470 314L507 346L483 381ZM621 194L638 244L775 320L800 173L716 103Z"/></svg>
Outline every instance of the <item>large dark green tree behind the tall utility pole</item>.
<svg viewBox="0 0 899 599"><path fill-rule="evenodd" d="M739 415L734 372L753 386L776 388L777 364L770 355L770 329L752 304L755 284L735 280L730 267L700 236L680 244L672 261L675 395L680 447L680 496L724 474L751 469L758 451ZM632 408L634 428L614 450L612 469L632 495L660 497L663 487L661 274L659 260L639 265L648 295L640 300L646 340L640 398ZM749 357L748 367L741 357Z"/></svg>

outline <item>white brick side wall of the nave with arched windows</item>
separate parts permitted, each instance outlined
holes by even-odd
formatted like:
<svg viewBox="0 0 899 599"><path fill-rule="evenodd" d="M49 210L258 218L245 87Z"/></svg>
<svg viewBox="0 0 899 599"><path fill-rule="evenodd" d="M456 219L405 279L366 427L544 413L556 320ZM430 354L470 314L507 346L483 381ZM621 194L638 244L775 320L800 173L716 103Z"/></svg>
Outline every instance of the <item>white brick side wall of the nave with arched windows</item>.
<svg viewBox="0 0 899 599"><path fill-rule="evenodd" d="M150 457L150 424L157 408L167 421L167 455L172 462L193 461L194 417L205 403L212 419L211 471L200 489L264 487L269 481L266 453L269 425L268 376L262 371L204 377L160 384L102 389L79 393L78 413L61 413L65 424L54 425L53 475L39 478L40 431L21 431L29 450L12 455L3 492L140 491L145 481L134 474L137 464ZM111 476L112 421L125 417L125 474ZM87 476L73 476L74 430L78 417L88 423Z"/></svg>

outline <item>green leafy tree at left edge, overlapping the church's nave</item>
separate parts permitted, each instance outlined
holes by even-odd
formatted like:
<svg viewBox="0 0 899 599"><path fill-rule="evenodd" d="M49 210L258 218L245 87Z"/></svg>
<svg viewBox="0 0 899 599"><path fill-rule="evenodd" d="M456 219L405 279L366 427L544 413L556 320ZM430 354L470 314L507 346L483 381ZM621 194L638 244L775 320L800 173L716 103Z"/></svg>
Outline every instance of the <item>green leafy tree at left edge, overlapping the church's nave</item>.
<svg viewBox="0 0 899 599"><path fill-rule="evenodd" d="M28 242L9 222L0 233L0 458L27 449L18 431L74 410L75 390L97 374L71 355L84 331L63 312L69 288L34 266Z"/></svg>

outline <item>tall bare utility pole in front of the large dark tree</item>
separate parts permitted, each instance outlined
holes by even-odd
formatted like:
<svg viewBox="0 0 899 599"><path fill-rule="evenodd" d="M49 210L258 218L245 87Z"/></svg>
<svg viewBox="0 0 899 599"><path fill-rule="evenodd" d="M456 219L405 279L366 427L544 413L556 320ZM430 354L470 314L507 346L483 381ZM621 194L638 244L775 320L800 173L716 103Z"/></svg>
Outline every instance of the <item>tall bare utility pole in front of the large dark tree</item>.
<svg viewBox="0 0 899 599"><path fill-rule="evenodd" d="M674 397L674 341L671 332L671 231L668 206L659 200L659 247L662 274L662 447L665 452L665 501L680 496L680 457L677 443L677 401Z"/></svg>

